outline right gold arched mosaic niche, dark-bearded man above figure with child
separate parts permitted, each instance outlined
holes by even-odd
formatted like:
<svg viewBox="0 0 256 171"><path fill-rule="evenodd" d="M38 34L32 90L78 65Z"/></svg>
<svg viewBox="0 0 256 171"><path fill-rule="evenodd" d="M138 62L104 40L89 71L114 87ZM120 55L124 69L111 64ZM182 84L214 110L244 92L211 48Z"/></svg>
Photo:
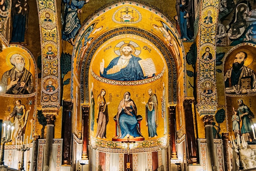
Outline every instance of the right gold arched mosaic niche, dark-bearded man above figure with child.
<svg viewBox="0 0 256 171"><path fill-rule="evenodd" d="M256 103L255 54L255 44L238 44L227 52L223 62L227 131L235 138L241 129L246 141L253 139L251 124L256 122L253 107ZM248 115L241 116L246 112ZM241 122L233 122L235 118Z"/></svg>

